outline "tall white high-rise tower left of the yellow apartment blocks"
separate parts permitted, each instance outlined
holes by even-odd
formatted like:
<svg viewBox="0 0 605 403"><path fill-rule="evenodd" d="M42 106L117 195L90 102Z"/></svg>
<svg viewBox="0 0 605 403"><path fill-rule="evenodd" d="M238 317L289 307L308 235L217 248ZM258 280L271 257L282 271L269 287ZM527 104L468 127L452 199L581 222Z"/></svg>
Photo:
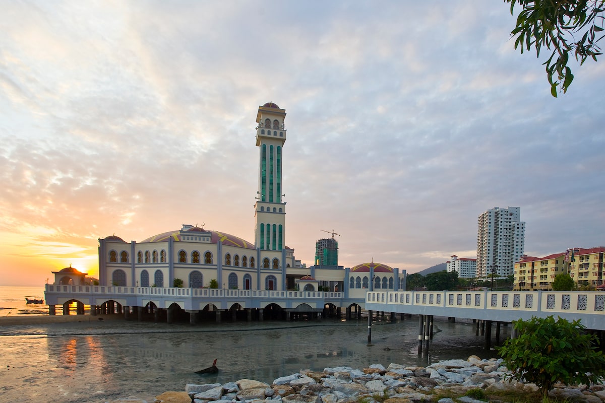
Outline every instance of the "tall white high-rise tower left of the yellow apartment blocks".
<svg viewBox="0 0 605 403"><path fill-rule="evenodd" d="M514 273L514 264L525 248L525 222L520 221L520 215L521 207L494 207L479 216L477 277Z"/></svg>

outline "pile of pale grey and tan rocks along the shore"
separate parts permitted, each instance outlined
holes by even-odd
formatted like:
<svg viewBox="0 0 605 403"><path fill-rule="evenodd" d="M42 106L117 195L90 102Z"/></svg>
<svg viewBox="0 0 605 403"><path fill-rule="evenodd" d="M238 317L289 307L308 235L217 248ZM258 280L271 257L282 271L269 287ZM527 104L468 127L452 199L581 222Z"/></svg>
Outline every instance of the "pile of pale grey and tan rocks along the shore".
<svg viewBox="0 0 605 403"><path fill-rule="evenodd" d="M350 367L326 368L323 372L301 371L275 379L271 385L252 379L226 384L186 385L185 392L166 392L155 403L483 403L464 396L468 390L482 388L490 393L537 391L534 384L509 381L501 359L451 359L428 367L390 364L372 365L364 370ZM555 388L553 397L561 401L603 403L602 385L592 388ZM441 392L441 393L440 393ZM446 393L444 393L446 392ZM443 398L439 396L458 396Z"/></svg>

